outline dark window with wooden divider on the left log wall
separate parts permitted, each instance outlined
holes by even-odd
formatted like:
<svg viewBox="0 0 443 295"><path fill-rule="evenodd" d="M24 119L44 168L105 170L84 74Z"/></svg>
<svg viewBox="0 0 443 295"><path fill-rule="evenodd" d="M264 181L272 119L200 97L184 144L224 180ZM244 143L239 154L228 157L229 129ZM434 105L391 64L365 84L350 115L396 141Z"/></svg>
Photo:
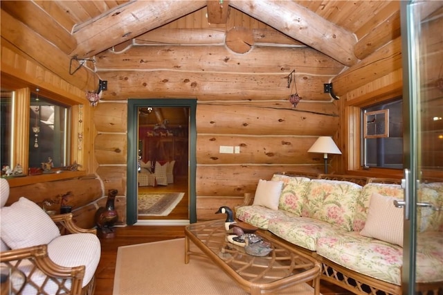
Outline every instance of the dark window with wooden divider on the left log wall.
<svg viewBox="0 0 443 295"><path fill-rule="evenodd" d="M49 161L55 170L69 166L73 105L48 91L12 85L1 85L1 167L19 164L24 175L33 175Z"/></svg>

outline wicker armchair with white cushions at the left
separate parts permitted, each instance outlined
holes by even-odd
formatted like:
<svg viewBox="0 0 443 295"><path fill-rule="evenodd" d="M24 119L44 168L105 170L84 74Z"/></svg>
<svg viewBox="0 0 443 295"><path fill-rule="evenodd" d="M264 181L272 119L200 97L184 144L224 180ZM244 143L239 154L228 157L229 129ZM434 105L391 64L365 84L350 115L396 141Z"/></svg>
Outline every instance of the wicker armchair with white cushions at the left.
<svg viewBox="0 0 443 295"><path fill-rule="evenodd" d="M50 217L24 197L4 206L9 197L6 179L0 179L0 193L0 262L10 269L11 294L93 294L100 260L96 229L80 229L72 213Z"/></svg>

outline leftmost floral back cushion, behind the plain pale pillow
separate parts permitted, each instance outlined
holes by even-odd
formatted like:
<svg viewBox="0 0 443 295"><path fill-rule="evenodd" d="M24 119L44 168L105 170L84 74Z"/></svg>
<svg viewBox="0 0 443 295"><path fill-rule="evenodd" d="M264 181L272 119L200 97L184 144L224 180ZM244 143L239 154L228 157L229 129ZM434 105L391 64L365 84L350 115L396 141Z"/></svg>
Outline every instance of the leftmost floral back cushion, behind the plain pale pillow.
<svg viewBox="0 0 443 295"><path fill-rule="evenodd" d="M301 216L302 204L305 202L311 179L307 177L273 175L272 180L283 181L278 208Z"/></svg>

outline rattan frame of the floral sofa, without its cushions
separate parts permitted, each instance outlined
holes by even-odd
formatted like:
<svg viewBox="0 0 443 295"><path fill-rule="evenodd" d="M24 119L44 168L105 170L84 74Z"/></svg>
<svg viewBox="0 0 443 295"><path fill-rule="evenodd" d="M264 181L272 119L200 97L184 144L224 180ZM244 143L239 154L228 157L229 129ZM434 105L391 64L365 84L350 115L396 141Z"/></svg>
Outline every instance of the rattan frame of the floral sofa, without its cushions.
<svg viewBox="0 0 443 295"><path fill-rule="evenodd" d="M376 178L376 177L362 177L354 175L334 175L334 174L314 174L304 172L276 172L275 174L287 175L291 177L308 177L310 179L329 179L339 181L351 181L361 186L370 183L377 184L400 184L400 179L388 179L388 178ZM244 203L242 206L249 206L253 204L254 194L245 194ZM283 242L290 247L296 248L302 253L306 253L318 260L322 265L320 280L325 280L334 285L338 285L347 289L348 291L359 295L380 295L380 294L402 294L402 288L399 285L384 282L383 280L377 280L364 274L359 274L356 271L342 267L341 265L324 258L316 253L303 247L297 246L277 237L273 233L267 230L260 230L263 235L272 235L273 238L277 238L280 242ZM419 284L419 291L422 294L442 294L443 282L433 284Z"/></svg>

